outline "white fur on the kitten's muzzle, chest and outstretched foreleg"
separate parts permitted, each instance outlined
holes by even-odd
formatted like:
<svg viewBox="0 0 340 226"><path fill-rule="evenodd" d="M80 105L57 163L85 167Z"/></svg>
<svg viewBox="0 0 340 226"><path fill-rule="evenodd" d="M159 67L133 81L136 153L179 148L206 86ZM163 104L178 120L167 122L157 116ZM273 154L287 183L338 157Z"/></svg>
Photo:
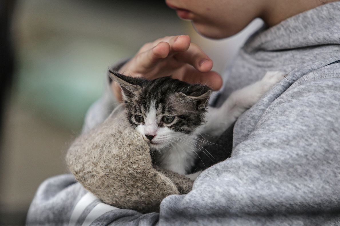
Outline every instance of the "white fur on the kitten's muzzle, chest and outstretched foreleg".
<svg viewBox="0 0 340 226"><path fill-rule="evenodd" d="M136 130L147 140L145 134L155 135L151 140L159 155L158 165L180 174L186 174L194 164L198 137L205 134L204 139L217 138L245 110L253 106L273 85L284 77L283 72L267 72L262 80L233 92L220 108L208 108L207 123L197 128L192 135L171 131L169 128L157 127L156 110L150 108L145 125ZM150 118L149 118L150 117ZM195 175L198 176L198 175Z"/></svg>

